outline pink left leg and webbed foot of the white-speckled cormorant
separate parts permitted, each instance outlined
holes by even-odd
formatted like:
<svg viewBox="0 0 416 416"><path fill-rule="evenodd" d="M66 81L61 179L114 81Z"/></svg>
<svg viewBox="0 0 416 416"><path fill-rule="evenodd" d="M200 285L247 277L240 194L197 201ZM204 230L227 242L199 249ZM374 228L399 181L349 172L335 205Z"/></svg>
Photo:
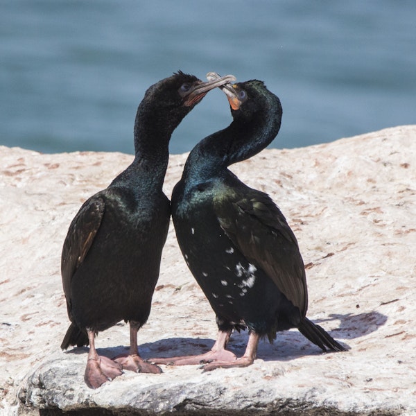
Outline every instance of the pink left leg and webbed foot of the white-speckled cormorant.
<svg viewBox="0 0 416 416"><path fill-rule="evenodd" d="M167 364L167 365L192 365L209 363L213 360L221 361L235 361L236 356L231 351L225 349L227 347L229 336L231 331L218 331L218 336L211 351L205 354L196 356L178 356L171 358L150 358L148 361L156 364Z"/></svg>

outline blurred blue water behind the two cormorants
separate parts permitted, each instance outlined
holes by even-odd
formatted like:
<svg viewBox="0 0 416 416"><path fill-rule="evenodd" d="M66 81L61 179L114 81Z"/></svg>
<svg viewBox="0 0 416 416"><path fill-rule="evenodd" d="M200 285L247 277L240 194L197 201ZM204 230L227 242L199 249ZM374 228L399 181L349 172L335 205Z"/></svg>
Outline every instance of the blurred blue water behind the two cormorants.
<svg viewBox="0 0 416 416"><path fill-rule="evenodd" d="M283 105L271 147L416 123L416 1L0 2L0 144L133 153L147 87L182 71L264 80ZM171 152L231 120L216 90Z"/></svg>

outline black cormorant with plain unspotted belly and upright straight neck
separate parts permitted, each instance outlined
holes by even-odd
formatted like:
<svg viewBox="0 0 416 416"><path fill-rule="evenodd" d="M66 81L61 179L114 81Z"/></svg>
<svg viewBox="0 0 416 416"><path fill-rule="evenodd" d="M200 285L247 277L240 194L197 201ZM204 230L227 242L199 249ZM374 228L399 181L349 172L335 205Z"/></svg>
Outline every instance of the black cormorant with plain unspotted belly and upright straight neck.
<svg viewBox="0 0 416 416"><path fill-rule="evenodd" d="M90 345L85 382L97 388L121 370L159 373L137 350L137 331L150 313L171 205L162 191L173 130L210 89L232 76L202 83L182 72L151 86L135 120L135 159L73 218L62 249L62 284L71 325L61 348ZM94 336L130 323L130 353L98 356Z"/></svg>

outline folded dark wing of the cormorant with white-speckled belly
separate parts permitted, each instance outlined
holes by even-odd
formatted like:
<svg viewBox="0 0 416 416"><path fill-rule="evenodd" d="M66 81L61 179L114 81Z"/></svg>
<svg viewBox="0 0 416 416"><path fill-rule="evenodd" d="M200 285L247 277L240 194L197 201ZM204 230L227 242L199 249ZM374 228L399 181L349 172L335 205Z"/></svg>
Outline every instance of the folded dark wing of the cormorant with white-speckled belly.
<svg viewBox="0 0 416 416"><path fill-rule="evenodd" d="M231 194L214 200L220 226L304 316L308 307L304 263L286 218L266 193L248 188L233 189Z"/></svg>

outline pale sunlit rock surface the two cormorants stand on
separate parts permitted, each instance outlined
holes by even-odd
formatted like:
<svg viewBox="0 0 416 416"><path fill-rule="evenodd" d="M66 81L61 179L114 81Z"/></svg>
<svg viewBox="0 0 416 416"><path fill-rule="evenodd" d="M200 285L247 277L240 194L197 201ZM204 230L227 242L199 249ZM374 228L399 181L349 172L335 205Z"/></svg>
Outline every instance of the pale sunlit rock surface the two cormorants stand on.
<svg viewBox="0 0 416 416"><path fill-rule="evenodd" d="M167 195L186 157L171 157ZM416 414L416 125L265 150L232 169L285 214L307 269L308 316L349 352L320 354L286 331L261 342L251 367L163 366L164 374L125 372L89 390L87 349L59 348L68 325L60 252L81 203L131 160L0 147L0 413ZM235 334L229 347L241 354L247 337ZM214 313L171 226L141 354L198 353L215 338ZM111 357L128 342L120 323L96 345Z"/></svg>

